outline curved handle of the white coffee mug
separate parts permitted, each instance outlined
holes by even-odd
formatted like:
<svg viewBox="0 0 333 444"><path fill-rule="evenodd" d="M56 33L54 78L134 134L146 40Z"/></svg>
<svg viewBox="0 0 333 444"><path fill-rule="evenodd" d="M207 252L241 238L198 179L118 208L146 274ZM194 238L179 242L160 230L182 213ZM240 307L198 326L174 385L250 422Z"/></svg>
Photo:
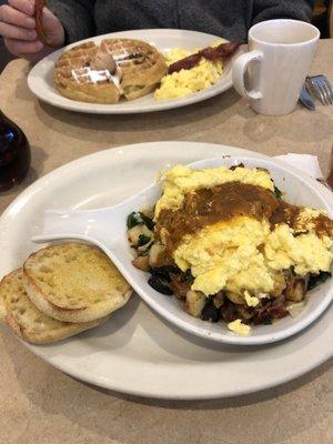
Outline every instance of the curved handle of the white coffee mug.
<svg viewBox="0 0 333 444"><path fill-rule="evenodd" d="M259 100L262 99L262 93L260 91L248 91L244 77L249 64L251 62L261 62L263 60L263 53L260 51L250 51L238 57L232 65L232 81L234 89L245 99Z"/></svg>

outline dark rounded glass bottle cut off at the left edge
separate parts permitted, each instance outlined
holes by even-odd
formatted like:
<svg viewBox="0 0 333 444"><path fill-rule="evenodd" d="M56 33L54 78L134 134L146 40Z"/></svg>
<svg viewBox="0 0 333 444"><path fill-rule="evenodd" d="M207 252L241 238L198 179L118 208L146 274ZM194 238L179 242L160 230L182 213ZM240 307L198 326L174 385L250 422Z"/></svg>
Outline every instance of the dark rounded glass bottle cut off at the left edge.
<svg viewBox="0 0 333 444"><path fill-rule="evenodd" d="M20 183L31 162L23 131L0 111L0 192Z"/></svg>

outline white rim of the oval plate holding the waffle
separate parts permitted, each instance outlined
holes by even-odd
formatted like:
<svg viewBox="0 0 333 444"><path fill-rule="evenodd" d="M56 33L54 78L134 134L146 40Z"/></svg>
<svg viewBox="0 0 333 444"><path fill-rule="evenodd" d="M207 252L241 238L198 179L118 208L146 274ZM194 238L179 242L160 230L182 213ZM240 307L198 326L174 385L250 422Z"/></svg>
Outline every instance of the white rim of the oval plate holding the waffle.
<svg viewBox="0 0 333 444"><path fill-rule="evenodd" d="M185 36L202 36L204 38L210 38L212 41L215 39L221 39L221 37L213 36L213 34L208 34L204 32L199 32L199 31L190 31L190 30L179 30L179 29L145 29L145 30L132 30L132 31L120 31L120 32L111 32L107 33L103 36L97 36L93 38L80 40L75 43L71 43L64 48L61 48L53 53L47 56L44 59L39 61L29 72L28 74L28 87L30 91L42 102L46 102L48 104L51 104L57 108L61 108L68 111L75 111L75 112L82 112L82 113L97 113L97 114L137 114L137 113L147 113L147 112L158 112L158 111L165 111L165 110L171 110L175 108L182 108L182 107L188 107L193 103L198 103L208 99L211 99L218 94L221 94L222 92L229 90L232 88L233 82L232 82L232 74L231 70L225 74L222 75L222 81L221 83L215 83L215 85L206 88L203 91L193 93L191 95L188 95L185 98L181 99L174 99L174 100L168 100L168 101L161 101L161 102L152 102L151 105L143 105L140 107L140 103L135 105L135 101L131 102L132 105L130 105L130 102L127 102L127 108L121 108L121 103L118 104L98 104L98 103L85 103L85 102L79 102L74 100L67 99L64 97L61 97L60 93L57 93L57 97L59 99L54 100L48 94L46 94L44 90L40 90L40 85L38 84L38 77L40 75L40 71L43 72L43 63L48 60L54 61L63 51L83 43L85 41L99 41L102 38L118 38L118 37L123 37L123 38L141 38L144 40L144 33L143 32L150 32L152 34L161 34L162 32L167 32L170 34L175 34L179 32L184 33ZM240 54L244 47L240 48L238 52L231 58L231 60Z"/></svg>

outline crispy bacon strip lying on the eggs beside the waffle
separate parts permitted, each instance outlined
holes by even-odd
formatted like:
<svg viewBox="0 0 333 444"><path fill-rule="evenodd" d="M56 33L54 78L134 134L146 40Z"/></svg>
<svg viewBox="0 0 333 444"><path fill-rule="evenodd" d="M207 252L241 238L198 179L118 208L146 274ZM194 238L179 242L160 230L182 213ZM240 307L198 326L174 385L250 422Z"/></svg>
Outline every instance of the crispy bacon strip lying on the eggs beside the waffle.
<svg viewBox="0 0 333 444"><path fill-rule="evenodd" d="M179 72L182 69L189 70L194 67L200 62L201 58L205 58L211 61L215 61L219 59L226 60L230 56L232 56L235 50L240 47L239 43L221 43L219 47L212 48L204 48L201 51L196 52L195 54L185 57L184 59L181 59L172 64L170 64L168 69L168 74L172 74L173 72Z"/></svg>

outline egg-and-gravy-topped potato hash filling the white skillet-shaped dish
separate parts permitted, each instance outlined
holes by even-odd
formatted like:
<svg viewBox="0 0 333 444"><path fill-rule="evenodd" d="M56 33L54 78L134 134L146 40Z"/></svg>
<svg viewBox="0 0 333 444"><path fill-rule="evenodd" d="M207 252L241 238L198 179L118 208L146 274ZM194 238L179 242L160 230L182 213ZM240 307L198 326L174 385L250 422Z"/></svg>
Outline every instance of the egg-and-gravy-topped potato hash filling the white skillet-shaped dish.
<svg viewBox="0 0 333 444"><path fill-rule="evenodd" d="M161 180L155 206L128 216L133 265L190 315L248 334L331 276L333 221L286 202L268 170L176 165Z"/></svg>

